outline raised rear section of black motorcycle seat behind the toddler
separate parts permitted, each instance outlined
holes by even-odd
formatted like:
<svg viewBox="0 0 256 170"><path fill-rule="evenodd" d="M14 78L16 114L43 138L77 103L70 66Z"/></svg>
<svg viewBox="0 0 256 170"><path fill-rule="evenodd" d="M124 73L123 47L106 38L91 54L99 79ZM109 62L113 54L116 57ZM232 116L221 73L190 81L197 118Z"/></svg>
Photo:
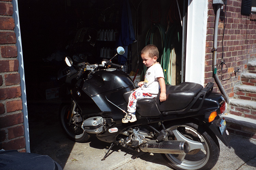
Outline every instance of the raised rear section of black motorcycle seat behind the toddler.
<svg viewBox="0 0 256 170"><path fill-rule="evenodd" d="M186 108L202 88L202 85L191 82L183 82L176 86L166 85L166 101L159 101L160 91L157 96L159 111L178 111Z"/></svg>

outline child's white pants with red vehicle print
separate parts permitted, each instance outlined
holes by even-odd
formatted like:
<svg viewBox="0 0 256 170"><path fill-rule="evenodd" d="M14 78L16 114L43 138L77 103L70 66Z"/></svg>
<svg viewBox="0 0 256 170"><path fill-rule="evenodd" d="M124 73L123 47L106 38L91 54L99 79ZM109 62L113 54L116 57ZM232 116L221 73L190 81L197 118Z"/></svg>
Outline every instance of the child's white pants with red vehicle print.
<svg viewBox="0 0 256 170"><path fill-rule="evenodd" d="M136 112L136 103L138 99L145 99L145 98L151 98L154 99L157 97L157 94L150 94L146 91L142 90L141 87L137 88L130 96L129 96L129 103L127 106L127 111L129 113L135 113Z"/></svg>

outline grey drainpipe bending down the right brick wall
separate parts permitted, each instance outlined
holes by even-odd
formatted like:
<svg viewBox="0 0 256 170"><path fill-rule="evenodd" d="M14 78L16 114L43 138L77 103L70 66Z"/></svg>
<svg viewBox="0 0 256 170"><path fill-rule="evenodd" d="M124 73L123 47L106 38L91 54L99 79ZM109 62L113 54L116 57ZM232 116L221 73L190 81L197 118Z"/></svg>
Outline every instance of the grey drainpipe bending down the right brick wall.
<svg viewBox="0 0 256 170"><path fill-rule="evenodd" d="M217 38L218 38L218 24L219 24L219 14L221 12L221 6L222 6L221 4L216 4L217 12L215 16L213 50L212 50L213 51L213 77L215 79L216 84L219 87L219 90L221 91L222 95L226 99L226 102L229 103L228 95L226 94L226 91L224 90L217 74Z"/></svg>

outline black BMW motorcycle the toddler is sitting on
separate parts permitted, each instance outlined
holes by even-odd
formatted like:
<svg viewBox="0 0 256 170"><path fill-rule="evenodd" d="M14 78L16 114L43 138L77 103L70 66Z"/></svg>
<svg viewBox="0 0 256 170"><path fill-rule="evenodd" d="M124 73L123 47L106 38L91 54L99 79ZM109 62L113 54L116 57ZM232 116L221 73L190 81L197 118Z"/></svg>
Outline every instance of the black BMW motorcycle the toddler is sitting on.
<svg viewBox="0 0 256 170"><path fill-rule="evenodd" d="M124 53L118 48L117 53ZM203 88L197 83L166 85L167 100L142 99L137 102L137 121L122 123L128 97L135 86L119 70L122 66L103 59L101 64L73 62L58 78L65 80L68 95L60 107L60 122L68 136L85 142L95 134L114 145L136 151L161 153L177 170L212 169L219 157L217 137L229 145L224 97L214 92L213 83Z"/></svg>

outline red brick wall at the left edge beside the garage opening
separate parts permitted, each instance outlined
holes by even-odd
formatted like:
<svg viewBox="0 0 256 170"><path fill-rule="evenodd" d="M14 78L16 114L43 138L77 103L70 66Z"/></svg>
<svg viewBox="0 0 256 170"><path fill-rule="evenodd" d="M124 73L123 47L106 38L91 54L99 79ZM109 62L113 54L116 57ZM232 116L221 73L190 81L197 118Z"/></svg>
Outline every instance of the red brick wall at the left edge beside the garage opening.
<svg viewBox="0 0 256 170"><path fill-rule="evenodd" d="M0 149L25 152L20 76L11 0L0 2Z"/></svg>

